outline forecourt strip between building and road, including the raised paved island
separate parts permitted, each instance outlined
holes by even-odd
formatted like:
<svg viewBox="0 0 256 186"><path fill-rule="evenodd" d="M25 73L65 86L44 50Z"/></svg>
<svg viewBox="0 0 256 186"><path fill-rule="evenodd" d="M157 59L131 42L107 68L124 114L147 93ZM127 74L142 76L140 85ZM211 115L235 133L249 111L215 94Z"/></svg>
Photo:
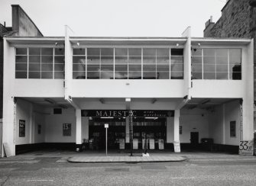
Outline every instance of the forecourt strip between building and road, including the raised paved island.
<svg viewBox="0 0 256 186"><path fill-rule="evenodd" d="M170 150L152 151L149 152L149 157L142 157L141 152L134 152L130 156L129 152L109 151L108 156L105 156L104 151L83 151L74 152L67 150L41 150L34 152L27 152L18 156L12 156L8 160L22 159L33 160L37 158L60 158L58 162L76 162L76 163L102 163L102 162L235 162L235 161L254 161L256 156L240 156L238 154L230 154L225 152L204 152L204 151L183 151L175 153ZM0 159L1 160L1 159Z"/></svg>

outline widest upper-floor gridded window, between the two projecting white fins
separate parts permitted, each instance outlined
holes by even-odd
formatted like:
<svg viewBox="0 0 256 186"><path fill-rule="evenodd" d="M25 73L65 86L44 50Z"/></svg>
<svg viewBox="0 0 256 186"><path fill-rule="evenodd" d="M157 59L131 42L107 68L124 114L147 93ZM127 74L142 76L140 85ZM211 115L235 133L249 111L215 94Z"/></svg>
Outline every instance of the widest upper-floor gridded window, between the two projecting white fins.
<svg viewBox="0 0 256 186"><path fill-rule="evenodd" d="M73 79L183 79L183 49L73 49Z"/></svg>

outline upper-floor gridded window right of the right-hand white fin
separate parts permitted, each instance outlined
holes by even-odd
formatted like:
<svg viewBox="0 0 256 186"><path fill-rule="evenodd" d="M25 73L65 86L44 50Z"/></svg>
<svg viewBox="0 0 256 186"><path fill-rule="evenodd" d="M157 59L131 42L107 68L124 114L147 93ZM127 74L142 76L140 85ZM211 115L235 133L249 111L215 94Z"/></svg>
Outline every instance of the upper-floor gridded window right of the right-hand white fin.
<svg viewBox="0 0 256 186"><path fill-rule="evenodd" d="M241 49L193 49L192 79L241 79Z"/></svg>

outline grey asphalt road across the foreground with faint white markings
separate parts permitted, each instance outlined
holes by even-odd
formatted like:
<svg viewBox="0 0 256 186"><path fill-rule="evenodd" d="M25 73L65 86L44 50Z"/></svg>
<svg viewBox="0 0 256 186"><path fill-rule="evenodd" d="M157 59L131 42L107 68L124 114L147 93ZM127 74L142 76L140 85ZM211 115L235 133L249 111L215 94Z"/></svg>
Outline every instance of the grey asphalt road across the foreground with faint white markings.
<svg viewBox="0 0 256 186"><path fill-rule="evenodd" d="M0 184L256 185L256 161L80 164L60 157L0 159Z"/></svg>

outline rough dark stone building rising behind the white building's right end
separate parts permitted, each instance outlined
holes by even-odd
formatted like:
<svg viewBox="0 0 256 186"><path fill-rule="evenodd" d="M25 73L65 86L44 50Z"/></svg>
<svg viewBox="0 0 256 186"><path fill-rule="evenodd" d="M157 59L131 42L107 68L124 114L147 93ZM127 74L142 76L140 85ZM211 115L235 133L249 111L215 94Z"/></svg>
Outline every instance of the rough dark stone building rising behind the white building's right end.
<svg viewBox="0 0 256 186"><path fill-rule="evenodd" d="M256 100L256 1L229 0L222 8L222 17L206 22L204 37L240 37L254 39L254 102ZM254 111L254 118L256 111ZM254 129L256 129L254 119Z"/></svg>

